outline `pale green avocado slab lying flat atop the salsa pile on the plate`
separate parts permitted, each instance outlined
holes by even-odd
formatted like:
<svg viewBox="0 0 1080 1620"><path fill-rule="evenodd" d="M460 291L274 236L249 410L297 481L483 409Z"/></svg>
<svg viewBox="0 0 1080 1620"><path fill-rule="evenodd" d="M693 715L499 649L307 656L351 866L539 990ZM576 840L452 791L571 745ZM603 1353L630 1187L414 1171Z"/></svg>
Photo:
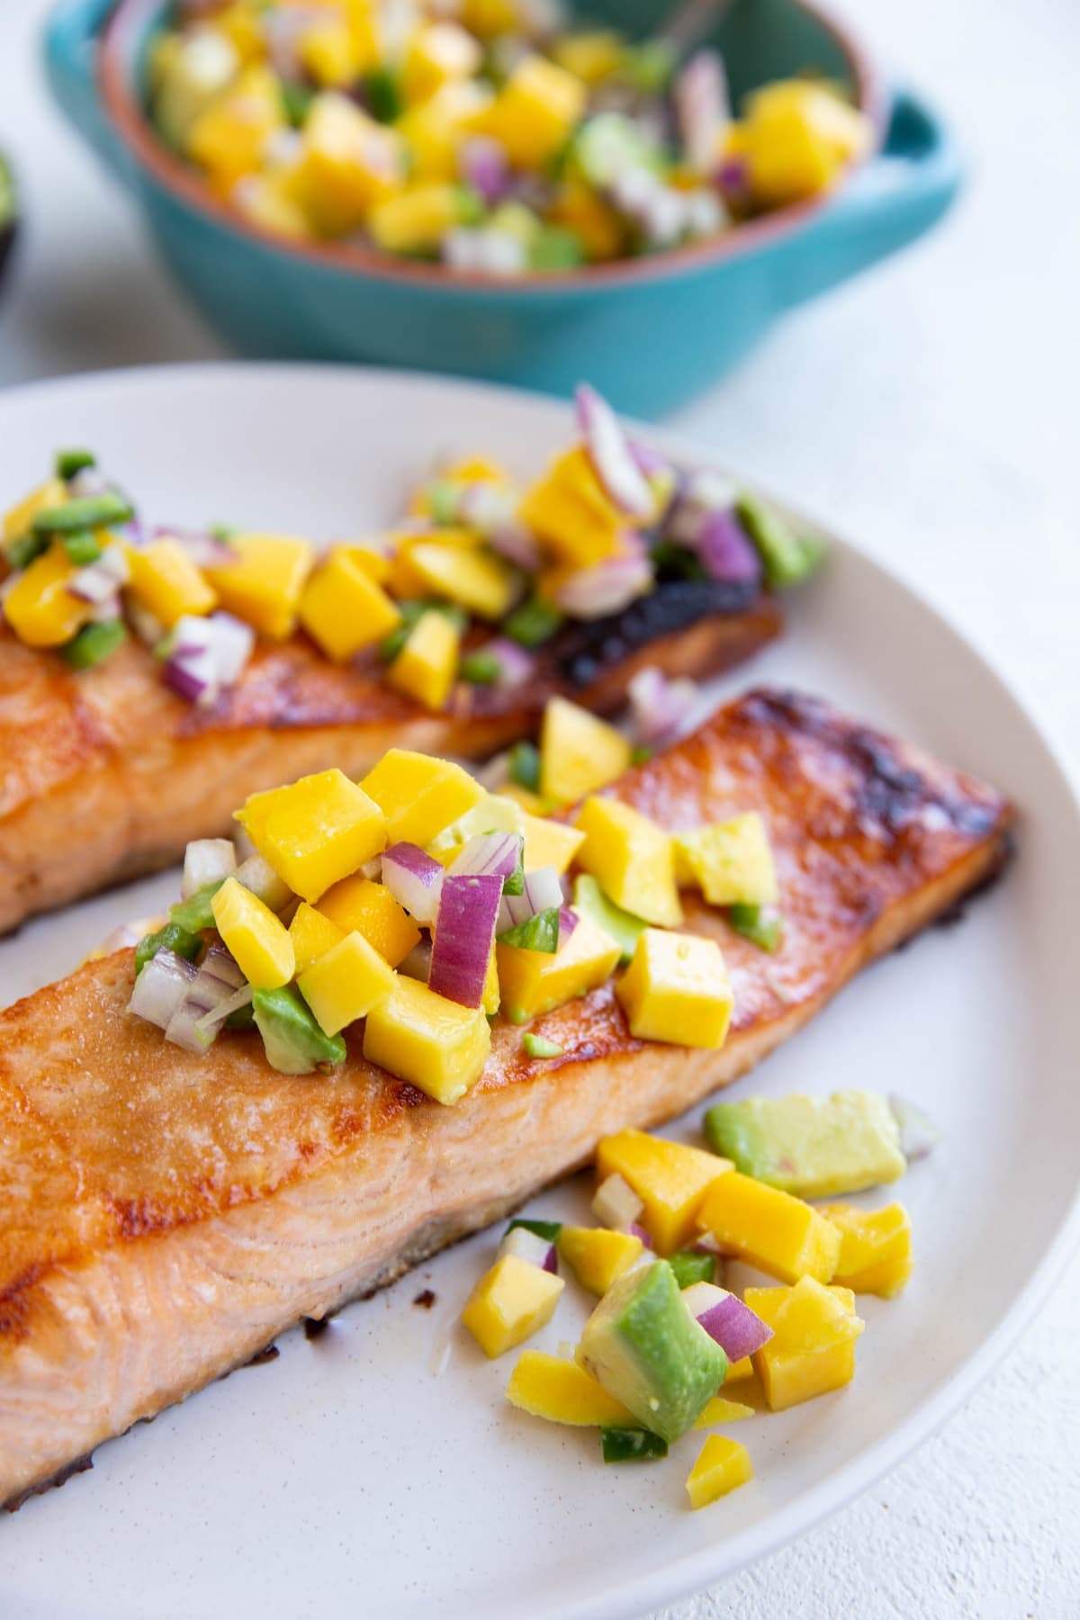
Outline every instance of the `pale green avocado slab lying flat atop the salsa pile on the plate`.
<svg viewBox="0 0 1080 1620"><path fill-rule="evenodd" d="M716 1103L704 1116L704 1136L745 1176L801 1199L861 1192L907 1170L900 1128L876 1092Z"/></svg>

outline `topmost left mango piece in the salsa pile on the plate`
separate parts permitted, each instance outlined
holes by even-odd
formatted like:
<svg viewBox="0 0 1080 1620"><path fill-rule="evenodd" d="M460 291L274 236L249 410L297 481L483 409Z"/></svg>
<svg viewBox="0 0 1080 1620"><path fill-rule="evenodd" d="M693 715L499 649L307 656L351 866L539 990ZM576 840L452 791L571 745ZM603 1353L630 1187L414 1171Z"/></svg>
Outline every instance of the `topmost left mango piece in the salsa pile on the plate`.
<svg viewBox="0 0 1080 1620"><path fill-rule="evenodd" d="M644 1131L619 1131L596 1149L597 1186L614 1174L630 1183L644 1204L641 1225L662 1256L693 1243L703 1199L730 1170L729 1158Z"/></svg>

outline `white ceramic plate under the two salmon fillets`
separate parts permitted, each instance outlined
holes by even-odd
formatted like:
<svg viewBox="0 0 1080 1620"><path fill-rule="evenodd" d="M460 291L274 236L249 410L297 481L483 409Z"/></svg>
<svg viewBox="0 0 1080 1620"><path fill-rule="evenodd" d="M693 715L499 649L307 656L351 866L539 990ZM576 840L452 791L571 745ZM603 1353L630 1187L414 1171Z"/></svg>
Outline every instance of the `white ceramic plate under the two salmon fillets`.
<svg viewBox="0 0 1080 1620"><path fill-rule="evenodd" d="M437 450L491 450L525 475L567 433L565 407L458 382L246 366L112 374L0 399L0 505L57 446L89 442L162 518L358 535L400 510ZM690 1513L699 1437L665 1463L602 1468L594 1432L505 1405L512 1358L487 1362L455 1325L497 1241L481 1234L319 1340L291 1333L280 1359L100 1447L92 1474L0 1523L5 1614L643 1614L866 1487L1007 1351L1077 1231L1077 805L993 671L832 536L787 638L717 692L753 680L826 693L988 776L1023 810L1020 859L962 927L866 974L738 1089L899 1090L944 1128L902 1187L915 1280L894 1302L860 1304L857 1382L743 1422L733 1432L756 1481ZM175 883L147 880L0 943L0 1000L60 977ZM693 1116L672 1128L695 1132ZM559 1187L536 1212L583 1218L585 1187ZM437 1294L431 1311L413 1302L423 1288ZM555 1349L585 1314L567 1298L538 1343Z"/></svg>

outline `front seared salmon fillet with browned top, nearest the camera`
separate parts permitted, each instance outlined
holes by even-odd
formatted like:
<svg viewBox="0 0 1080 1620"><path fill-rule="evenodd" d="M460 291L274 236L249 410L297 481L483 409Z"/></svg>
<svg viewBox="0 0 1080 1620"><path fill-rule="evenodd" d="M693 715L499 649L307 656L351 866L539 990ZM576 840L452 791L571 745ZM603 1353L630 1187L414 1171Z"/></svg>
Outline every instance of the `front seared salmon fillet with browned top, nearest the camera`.
<svg viewBox="0 0 1080 1620"><path fill-rule="evenodd" d="M494 1021L453 1106L366 1063L288 1077L257 1040L207 1058L126 1013L133 954L0 1014L0 1502L63 1474L300 1317L324 1317L745 1074L874 957L1002 865L1007 800L827 705L758 690L615 794L670 829L759 808L785 933L721 943L721 1051L635 1040L612 983L538 1019L529 1059Z"/></svg>

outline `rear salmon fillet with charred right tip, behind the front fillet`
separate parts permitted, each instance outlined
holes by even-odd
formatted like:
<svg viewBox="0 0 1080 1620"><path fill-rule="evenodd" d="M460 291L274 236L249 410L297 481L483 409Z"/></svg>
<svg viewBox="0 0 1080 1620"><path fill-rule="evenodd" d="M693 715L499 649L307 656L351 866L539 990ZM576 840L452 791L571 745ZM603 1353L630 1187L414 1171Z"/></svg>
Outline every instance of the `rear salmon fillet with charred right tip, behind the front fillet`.
<svg viewBox="0 0 1080 1620"><path fill-rule="evenodd" d="M526 688L466 687L432 714L374 656L329 663L311 642L261 643L238 684L196 710L130 643L73 674L0 629L0 933L180 860L232 826L248 794L338 765L363 776L390 745L483 760L531 735L557 692L617 710L631 676L712 676L780 625L755 586L669 582L622 614L567 625Z"/></svg>

